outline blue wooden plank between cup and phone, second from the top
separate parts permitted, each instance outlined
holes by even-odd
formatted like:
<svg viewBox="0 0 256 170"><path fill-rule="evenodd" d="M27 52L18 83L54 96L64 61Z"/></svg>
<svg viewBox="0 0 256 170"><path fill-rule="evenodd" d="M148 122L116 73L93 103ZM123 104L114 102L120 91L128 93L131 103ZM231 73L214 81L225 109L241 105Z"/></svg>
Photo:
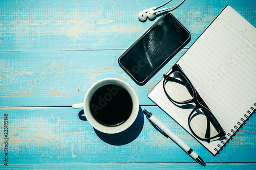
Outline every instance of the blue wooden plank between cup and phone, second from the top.
<svg viewBox="0 0 256 170"><path fill-rule="evenodd" d="M0 53L0 106L71 106L82 103L88 88L109 77L136 91L141 105L147 93L185 52L182 50L146 85L137 85L119 66L123 50Z"/></svg>

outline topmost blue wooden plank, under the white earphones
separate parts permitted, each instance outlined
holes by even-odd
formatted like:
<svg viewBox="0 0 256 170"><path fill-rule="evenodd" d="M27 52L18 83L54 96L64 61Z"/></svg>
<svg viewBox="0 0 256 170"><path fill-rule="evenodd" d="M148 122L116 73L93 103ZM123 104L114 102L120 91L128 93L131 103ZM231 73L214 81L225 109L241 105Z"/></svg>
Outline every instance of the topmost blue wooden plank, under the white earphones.
<svg viewBox="0 0 256 170"><path fill-rule="evenodd" d="M1 1L0 52L126 49L154 21L140 22L140 11L165 1ZM176 5L171 2L166 7ZM230 5L256 26L255 1L185 1L172 13L191 32L190 46ZM49 9L50 7L50 9Z"/></svg>

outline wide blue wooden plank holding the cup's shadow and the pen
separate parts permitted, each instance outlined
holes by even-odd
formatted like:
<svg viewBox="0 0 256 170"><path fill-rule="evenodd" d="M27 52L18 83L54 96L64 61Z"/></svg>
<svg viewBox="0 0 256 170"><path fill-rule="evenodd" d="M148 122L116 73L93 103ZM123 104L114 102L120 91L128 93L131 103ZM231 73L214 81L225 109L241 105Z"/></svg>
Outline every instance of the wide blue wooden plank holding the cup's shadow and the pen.
<svg viewBox="0 0 256 170"><path fill-rule="evenodd" d="M220 155L212 156L158 107L141 107L135 123L125 132L103 134L78 118L71 107L0 108L8 114L8 163L195 163L173 141L165 138L144 118L154 113L193 148L205 162L255 162L255 122L252 117ZM5 148L4 123L0 145ZM0 159L6 152L0 151ZM239 156L238 156L239 154Z"/></svg>

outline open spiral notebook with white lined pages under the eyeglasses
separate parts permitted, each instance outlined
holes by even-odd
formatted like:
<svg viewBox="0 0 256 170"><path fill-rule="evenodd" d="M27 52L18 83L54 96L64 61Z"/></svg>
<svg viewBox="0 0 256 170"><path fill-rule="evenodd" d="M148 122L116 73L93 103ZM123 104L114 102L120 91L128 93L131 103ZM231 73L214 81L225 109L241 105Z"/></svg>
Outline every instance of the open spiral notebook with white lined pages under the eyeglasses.
<svg viewBox="0 0 256 170"><path fill-rule="evenodd" d="M216 156L256 109L256 29L226 6L177 63L226 132L210 143L194 136ZM169 101L163 79L148 98L193 136L187 120L191 109Z"/></svg>

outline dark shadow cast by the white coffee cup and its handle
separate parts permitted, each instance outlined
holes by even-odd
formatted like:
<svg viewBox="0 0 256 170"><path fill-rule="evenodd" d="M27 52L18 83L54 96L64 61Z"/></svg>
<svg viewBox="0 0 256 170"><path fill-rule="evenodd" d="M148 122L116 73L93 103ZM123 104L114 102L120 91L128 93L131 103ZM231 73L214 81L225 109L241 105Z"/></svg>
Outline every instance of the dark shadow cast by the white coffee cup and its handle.
<svg viewBox="0 0 256 170"><path fill-rule="evenodd" d="M81 110L78 113L78 117L80 120L87 120L86 117L84 116L83 110ZM137 118L135 119L135 122L123 132L116 133L116 134L106 134L98 131L97 129L94 129L94 131L98 135L98 137L106 143L109 143L112 145L124 145L132 142L139 136L140 132L142 131L143 125L144 125L144 114L140 107L139 113Z"/></svg>

